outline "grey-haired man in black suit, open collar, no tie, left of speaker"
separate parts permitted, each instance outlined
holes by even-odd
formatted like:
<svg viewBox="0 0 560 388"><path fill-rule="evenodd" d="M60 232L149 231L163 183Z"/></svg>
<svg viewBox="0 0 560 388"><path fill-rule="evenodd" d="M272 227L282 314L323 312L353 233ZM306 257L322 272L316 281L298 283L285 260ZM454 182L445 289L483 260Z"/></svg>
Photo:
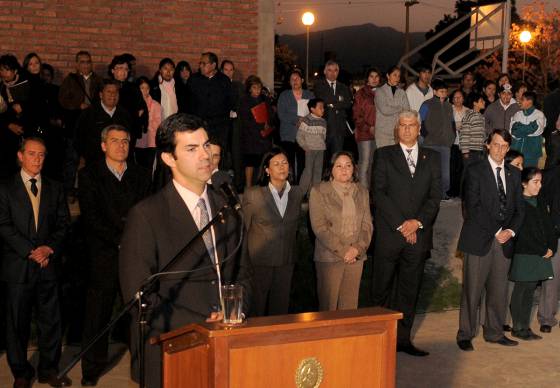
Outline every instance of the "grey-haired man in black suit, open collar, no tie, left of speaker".
<svg viewBox="0 0 560 388"><path fill-rule="evenodd" d="M127 163L129 131L110 125L101 131L105 158L80 171L78 198L85 228L88 286L83 345L111 319L119 291L119 243L128 210L150 191L150 172ZM95 386L107 366L108 337L83 357L82 385Z"/></svg>

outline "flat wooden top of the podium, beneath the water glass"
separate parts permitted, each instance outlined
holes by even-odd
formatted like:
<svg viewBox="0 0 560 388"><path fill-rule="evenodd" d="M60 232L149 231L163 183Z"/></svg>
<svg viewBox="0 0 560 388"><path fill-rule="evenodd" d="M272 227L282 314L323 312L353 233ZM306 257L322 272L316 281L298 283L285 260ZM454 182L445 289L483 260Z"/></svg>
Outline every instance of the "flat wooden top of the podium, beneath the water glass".
<svg viewBox="0 0 560 388"><path fill-rule="evenodd" d="M189 332L198 332L205 337L227 337L249 333L271 333L278 330L299 330L332 326L333 324L364 323L397 320L402 313L382 307L367 307L356 310L309 312L301 314L275 315L248 318L239 326L223 326L219 323L193 323L150 339L151 344L159 344ZM336 322L336 323L335 323Z"/></svg>

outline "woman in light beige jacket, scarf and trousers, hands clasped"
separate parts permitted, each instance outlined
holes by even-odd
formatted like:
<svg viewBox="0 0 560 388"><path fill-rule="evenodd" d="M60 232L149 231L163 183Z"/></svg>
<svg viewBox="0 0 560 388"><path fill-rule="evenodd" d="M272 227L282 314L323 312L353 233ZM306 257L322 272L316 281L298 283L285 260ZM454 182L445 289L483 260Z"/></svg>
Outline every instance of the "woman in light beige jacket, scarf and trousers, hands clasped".
<svg viewBox="0 0 560 388"><path fill-rule="evenodd" d="M369 193L358 184L352 154L334 154L328 171L309 197L319 310L355 309L373 233Z"/></svg>

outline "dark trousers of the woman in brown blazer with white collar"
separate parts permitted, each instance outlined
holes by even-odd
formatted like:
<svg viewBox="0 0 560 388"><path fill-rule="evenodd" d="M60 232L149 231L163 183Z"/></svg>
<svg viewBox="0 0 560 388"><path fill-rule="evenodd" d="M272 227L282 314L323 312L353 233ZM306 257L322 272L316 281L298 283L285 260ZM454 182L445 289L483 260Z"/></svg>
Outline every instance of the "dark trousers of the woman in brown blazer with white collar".
<svg viewBox="0 0 560 388"><path fill-rule="evenodd" d="M253 315L288 314L294 266L267 267L255 265Z"/></svg>

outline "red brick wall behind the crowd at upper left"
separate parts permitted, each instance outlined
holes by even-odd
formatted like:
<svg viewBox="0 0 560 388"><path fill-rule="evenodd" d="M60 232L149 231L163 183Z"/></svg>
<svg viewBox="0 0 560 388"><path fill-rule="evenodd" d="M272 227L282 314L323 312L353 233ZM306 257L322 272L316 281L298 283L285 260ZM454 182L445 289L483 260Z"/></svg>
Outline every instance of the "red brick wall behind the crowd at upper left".
<svg viewBox="0 0 560 388"><path fill-rule="evenodd" d="M88 50L103 76L112 57L130 52L137 74L151 77L159 60L214 51L235 62L238 77L257 72L258 0L0 0L0 53L23 61L35 51L60 80Z"/></svg>

